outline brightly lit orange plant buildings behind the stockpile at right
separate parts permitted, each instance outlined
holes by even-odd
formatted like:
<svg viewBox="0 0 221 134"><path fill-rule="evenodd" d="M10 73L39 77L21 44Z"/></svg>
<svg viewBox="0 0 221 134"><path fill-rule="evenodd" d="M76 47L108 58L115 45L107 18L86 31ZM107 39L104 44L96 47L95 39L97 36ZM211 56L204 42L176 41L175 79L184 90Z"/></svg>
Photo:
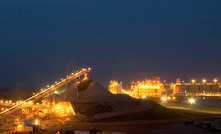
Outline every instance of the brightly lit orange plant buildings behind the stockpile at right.
<svg viewBox="0 0 221 134"><path fill-rule="evenodd" d="M193 96L218 96L221 97L221 83L217 79L207 82L203 79L201 82L191 80L185 83L180 79L176 83L162 83L159 77L153 80L131 82L130 89L123 89L122 82L110 81L108 89L113 94L128 94L133 98L161 98L162 101L176 101L177 98Z"/></svg>

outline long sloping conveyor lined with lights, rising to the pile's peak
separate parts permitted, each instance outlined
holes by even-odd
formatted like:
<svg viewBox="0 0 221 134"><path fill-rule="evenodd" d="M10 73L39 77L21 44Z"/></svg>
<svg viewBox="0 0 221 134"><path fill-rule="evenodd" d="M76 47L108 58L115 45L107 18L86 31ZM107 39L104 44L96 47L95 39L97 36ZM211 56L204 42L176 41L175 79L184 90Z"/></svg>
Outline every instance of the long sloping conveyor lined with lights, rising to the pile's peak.
<svg viewBox="0 0 221 134"><path fill-rule="evenodd" d="M87 69L82 68L79 72L72 73L71 75L67 76L66 78L61 79L60 82L55 82L54 85L51 85L50 87L42 90L40 93L37 93L37 94L33 95L32 97L26 99L25 101L23 101L21 103L18 103L16 105L12 106L11 108L9 108L5 111L2 111L0 113L0 118L3 118L5 116L15 112L16 110L18 110L19 108L21 108L23 105L25 105L26 103L28 103L30 101L34 102L34 101L38 100L39 98L44 97L48 93L53 92L54 90L58 89L59 87L75 80L76 78L80 77L81 75L87 76L87 73L89 73L90 70L91 70L91 68L87 68Z"/></svg>

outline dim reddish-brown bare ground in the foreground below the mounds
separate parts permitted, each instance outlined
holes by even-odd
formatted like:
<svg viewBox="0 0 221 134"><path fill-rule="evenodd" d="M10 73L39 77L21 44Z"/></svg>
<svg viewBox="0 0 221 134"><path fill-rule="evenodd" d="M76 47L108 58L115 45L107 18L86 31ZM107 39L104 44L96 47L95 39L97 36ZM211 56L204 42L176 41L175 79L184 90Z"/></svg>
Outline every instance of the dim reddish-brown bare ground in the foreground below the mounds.
<svg viewBox="0 0 221 134"><path fill-rule="evenodd" d="M51 125L42 133L53 133L58 131L62 126L71 126L75 129L88 129L96 127L98 130L126 132L128 134L209 134L211 131L207 129L185 126L186 120L205 120L217 119L219 115L205 114L198 112L189 112L186 110L176 111L177 116L170 119L157 120L130 120L130 121L112 121L112 122L79 122L76 120L67 120L64 123ZM53 123L52 123L53 124ZM216 134L217 132L213 132Z"/></svg>

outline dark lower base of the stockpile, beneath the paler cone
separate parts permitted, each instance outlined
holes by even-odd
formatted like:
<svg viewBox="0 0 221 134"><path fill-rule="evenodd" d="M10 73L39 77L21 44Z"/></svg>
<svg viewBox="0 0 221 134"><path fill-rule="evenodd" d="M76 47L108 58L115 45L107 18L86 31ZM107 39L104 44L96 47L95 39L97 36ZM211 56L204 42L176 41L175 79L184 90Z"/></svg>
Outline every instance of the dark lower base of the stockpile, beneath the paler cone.
<svg viewBox="0 0 221 134"><path fill-rule="evenodd" d="M76 111L86 115L84 121L166 119L175 115L174 111L149 100L124 103L72 103L72 105Z"/></svg>

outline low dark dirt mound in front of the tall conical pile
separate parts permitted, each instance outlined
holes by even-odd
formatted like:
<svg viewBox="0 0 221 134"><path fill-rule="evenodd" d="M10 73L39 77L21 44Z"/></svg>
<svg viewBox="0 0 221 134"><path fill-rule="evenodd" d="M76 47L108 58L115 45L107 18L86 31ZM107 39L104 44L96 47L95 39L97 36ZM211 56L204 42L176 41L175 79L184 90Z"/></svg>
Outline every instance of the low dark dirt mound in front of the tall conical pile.
<svg viewBox="0 0 221 134"><path fill-rule="evenodd" d="M114 111L88 116L84 121L120 121L167 119L175 116L175 112L153 101L140 101L127 110Z"/></svg>

